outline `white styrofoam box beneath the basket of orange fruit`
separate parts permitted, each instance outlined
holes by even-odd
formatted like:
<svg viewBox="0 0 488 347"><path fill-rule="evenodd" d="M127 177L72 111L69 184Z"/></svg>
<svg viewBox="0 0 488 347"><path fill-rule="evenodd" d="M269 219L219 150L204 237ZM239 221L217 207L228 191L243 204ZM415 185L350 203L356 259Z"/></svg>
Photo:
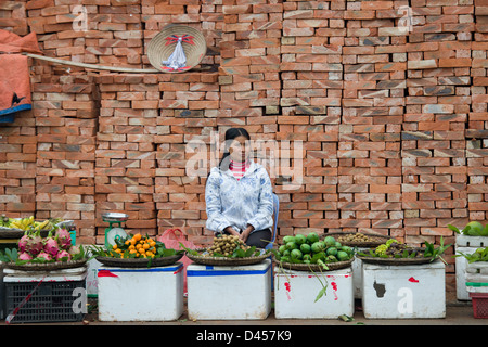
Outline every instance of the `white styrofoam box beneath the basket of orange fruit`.
<svg viewBox="0 0 488 347"><path fill-rule="evenodd" d="M166 267L100 267L101 321L174 321L183 313L183 264Z"/></svg>

